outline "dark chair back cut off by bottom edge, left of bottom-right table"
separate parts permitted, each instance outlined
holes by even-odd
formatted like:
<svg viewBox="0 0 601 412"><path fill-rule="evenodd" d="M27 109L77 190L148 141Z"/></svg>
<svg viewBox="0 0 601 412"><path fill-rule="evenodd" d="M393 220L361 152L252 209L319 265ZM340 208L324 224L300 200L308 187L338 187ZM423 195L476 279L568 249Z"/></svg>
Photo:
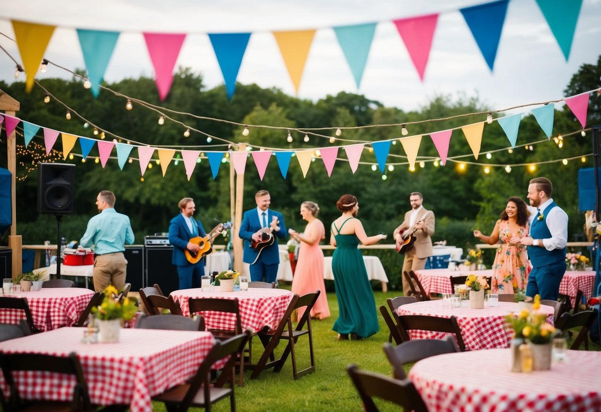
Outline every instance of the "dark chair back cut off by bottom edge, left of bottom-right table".
<svg viewBox="0 0 601 412"><path fill-rule="evenodd" d="M384 375L359 371L356 365L347 366L346 371L353 384L355 384L359 396L361 396L365 412L378 411L372 399L374 397L401 405L404 411L428 411L424 400L419 396L419 392L417 392L413 383L408 379L397 380Z"/></svg>

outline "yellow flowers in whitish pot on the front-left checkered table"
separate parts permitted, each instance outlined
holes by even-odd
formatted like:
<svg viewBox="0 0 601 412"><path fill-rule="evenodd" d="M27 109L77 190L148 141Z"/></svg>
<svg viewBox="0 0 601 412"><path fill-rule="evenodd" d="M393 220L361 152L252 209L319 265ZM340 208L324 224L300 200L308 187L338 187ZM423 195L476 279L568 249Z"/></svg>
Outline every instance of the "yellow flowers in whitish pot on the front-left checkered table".
<svg viewBox="0 0 601 412"><path fill-rule="evenodd" d="M123 296L118 298L119 292L113 285L106 286L103 294L104 298L100 306L92 308L92 313L97 319L98 341L118 342L121 323L132 320L138 307L135 300Z"/></svg>

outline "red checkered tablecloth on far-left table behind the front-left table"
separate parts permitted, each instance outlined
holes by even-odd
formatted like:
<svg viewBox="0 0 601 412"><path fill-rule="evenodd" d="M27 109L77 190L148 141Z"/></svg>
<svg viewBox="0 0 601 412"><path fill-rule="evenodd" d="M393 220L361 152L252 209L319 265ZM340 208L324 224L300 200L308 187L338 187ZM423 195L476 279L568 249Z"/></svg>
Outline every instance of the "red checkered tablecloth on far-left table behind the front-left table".
<svg viewBox="0 0 601 412"><path fill-rule="evenodd" d="M9 297L24 297L35 327L46 331L74 324L90 303L93 294L94 291L84 288L45 288ZM25 319L23 311L0 309L0 323L17 324L22 319Z"/></svg>

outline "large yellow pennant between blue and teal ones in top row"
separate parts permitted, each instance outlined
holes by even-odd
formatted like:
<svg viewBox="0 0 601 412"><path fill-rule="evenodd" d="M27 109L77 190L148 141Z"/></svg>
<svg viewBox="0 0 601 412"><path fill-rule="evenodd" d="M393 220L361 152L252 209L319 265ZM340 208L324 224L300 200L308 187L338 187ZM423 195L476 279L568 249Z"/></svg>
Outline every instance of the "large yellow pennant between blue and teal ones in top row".
<svg viewBox="0 0 601 412"><path fill-rule="evenodd" d="M274 31L273 35L278 42L279 52L282 53L294 90L298 94L315 30Z"/></svg>

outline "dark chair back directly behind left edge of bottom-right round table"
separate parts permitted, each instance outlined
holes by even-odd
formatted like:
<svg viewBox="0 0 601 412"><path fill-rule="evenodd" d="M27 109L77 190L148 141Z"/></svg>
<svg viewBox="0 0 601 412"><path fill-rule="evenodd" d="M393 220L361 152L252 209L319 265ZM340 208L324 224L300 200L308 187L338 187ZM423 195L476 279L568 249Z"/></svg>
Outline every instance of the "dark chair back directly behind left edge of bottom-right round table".
<svg viewBox="0 0 601 412"><path fill-rule="evenodd" d="M403 342L396 347L386 342L383 350L388 362L392 365L392 374L401 380L407 378L403 368L407 363L414 363L444 353L460 352L453 336L447 336L445 339L415 339Z"/></svg>

